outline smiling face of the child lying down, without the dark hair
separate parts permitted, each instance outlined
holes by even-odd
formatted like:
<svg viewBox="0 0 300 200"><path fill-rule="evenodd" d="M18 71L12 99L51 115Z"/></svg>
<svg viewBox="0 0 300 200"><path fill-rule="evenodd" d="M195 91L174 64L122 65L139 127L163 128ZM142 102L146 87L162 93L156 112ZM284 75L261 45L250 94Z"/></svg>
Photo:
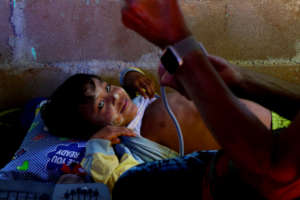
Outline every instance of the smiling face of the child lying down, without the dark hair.
<svg viewBox="0 0 300 200"><path fill-rule="evenodd" d="M118 86L93 78L95 90L87 94L93 96L93 102L80 106L86 120L103 127L106 125L125 126L133 120L137 106L131 101L126 91Z"/></svg>

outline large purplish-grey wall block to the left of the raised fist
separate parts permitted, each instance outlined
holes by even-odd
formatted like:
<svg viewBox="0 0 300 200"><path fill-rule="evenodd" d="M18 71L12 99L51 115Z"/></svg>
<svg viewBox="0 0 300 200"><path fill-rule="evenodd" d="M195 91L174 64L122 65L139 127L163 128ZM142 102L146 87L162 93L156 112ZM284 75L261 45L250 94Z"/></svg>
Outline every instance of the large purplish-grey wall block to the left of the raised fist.
<svg viewBox="0 0 300 200"><path fill-rule="evenodd" d="M25 34L38 62L133 61L155 50L124 29L119 1L30 0L26 4Z"/></svg>

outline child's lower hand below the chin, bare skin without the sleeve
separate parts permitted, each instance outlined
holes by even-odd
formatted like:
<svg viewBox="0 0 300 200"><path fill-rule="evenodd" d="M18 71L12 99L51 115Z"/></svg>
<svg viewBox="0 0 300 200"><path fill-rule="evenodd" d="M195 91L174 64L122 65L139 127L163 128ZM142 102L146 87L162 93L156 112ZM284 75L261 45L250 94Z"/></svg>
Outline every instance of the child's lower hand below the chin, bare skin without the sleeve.
<svg viewBox="0 0 300 200"><path fill-rule="evenodd" d="M136 134L132 130L125 127L106 126L95 133L91 139L99 138L109 140L112 144L119 144L121 142L119 136L135 137Z"/></svg>

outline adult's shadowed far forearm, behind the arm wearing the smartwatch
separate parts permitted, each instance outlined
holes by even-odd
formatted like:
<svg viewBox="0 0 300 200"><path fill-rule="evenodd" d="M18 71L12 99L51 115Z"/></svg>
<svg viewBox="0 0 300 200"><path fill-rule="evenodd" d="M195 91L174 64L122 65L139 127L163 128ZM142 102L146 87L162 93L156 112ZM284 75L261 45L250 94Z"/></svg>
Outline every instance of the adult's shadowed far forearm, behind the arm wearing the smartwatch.
<svg viewBox="0 0 300 200"><path fill-rule="evenodd" d="M233 91L241 98L253 100L282 116L293 119L300 108L300 85L239 68L243 80Z"/></svg>

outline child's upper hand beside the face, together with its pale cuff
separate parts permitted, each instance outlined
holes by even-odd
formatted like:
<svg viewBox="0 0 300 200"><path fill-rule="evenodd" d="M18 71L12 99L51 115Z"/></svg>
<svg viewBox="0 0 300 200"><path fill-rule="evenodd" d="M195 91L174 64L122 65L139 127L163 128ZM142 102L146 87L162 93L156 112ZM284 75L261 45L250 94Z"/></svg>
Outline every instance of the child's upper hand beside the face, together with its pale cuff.
<svg viewBox="0 0 300 200"><path fill-rule="evenodd" d="M120 74L120 84L131 98L137 93L145 98L152 98L155 94L154 82L136 67L129 67Z"/></svg>

